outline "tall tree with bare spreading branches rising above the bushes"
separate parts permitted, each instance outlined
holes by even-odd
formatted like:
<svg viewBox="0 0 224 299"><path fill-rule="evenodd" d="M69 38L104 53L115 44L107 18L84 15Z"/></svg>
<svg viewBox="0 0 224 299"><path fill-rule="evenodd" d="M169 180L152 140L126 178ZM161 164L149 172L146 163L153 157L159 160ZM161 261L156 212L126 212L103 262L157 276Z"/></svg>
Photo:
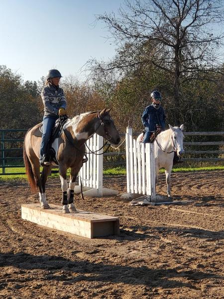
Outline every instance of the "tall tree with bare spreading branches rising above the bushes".
<svg viewBox="0 0 224 299"><path fill-rule="evenodd" d="M223 0L127 0L119 17L113 13L97 17L120 46L118 55L106 63L91 60L88 66L95 77L116 70L119 78L149 64L164 70L173 80L174 117L180 125L183 84L222 74L219 49L224 33L212 26L223 22L223 4Z"/></svg>

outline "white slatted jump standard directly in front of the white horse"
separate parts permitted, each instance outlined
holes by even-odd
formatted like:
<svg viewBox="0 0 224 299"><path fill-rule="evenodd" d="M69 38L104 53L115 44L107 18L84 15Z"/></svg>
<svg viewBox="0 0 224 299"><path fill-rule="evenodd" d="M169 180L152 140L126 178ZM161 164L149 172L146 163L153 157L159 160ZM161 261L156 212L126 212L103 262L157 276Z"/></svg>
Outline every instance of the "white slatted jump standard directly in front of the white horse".
<svg viewBox="0 0 224 299"><path fill-rule="evenodd" d="M126 129L127 194L142 194L155 198L154 145L136 143L132 128Z"/></svg>

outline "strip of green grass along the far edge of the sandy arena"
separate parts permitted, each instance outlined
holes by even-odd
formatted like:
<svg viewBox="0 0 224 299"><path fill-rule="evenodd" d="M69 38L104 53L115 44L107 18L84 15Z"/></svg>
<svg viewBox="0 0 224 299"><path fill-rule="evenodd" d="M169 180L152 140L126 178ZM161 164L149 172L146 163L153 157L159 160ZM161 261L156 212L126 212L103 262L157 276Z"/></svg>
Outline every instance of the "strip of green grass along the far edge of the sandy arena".
<svg viewBox="0 0 224 299"><path fill-rule="evenodd" d="M42 170L42 167L40 168ZM182 171L212 171L212 170L224 170L224 166L206 166L206 167L178 167L173 168L172 172L182 172ZM24 167L16 167L16 168L5 168L5 172L25 172ZM165 169L160 169L160 173L165 172ZM2 173L2 168L0 168L0 174ZM68 170L67 174L70 174L70 170ZM118 166L113 168L108 168L104 170L104 175L125 175L126 168L124 166ZM51 177L58 177L58 173L52 173ZM25 174L12 174L12 175L0 175L0 180L8 180L8 179L21 179L26 178Z"/></svg>

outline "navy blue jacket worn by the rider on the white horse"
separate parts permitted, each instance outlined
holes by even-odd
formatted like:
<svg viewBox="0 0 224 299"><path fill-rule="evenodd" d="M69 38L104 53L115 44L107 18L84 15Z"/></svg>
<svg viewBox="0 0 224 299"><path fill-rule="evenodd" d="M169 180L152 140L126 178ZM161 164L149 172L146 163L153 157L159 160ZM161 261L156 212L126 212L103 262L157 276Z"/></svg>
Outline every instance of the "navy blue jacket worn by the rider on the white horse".
<svg viewBox="0 0 224 299"><path fill-rule="evenodd" d="M163 107L160 106L159 109L156 109L153 104L145 108L141 117L143 126L151 132L156 130L156 125L161 126L162 130L165 130L165 119L166 116Z"/></svg>

